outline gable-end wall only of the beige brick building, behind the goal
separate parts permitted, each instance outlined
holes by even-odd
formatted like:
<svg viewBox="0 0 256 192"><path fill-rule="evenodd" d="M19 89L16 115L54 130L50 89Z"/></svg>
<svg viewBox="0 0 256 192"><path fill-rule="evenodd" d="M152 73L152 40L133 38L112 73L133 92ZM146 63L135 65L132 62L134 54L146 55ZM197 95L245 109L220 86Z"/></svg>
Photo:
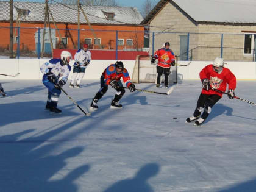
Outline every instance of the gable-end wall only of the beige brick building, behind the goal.
<svg viewBox="0 0 256 192"><path fill-rule="evenodd" d="M180 54L180 35L187 35L188 32L198 32L197 26L169 2L152 19L150 30L151 32L155 32L154 51L161 48L163 43L169 41L170 47L176 55ZM190 38L190 46L197 46L198 37L191 35ZM152 33L150 38L150 52L152 52Z"/></svg>

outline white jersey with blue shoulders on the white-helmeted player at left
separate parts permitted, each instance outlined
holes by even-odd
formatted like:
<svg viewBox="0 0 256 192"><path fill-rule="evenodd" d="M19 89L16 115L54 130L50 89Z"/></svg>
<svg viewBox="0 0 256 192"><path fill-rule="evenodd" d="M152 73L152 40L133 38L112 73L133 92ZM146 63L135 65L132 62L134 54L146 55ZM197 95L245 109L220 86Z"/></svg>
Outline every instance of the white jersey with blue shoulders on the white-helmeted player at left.
<svg viewBox="0 0 256 192"><path fill-rule="evenodd" d="M71 66L61 65L60 59L54 58L41 65L40 70L44 74L43 82L48 80L46 73L49 72L54 74L57 81L64 80L66 82L68 80L69 72L71 71Z"/></svg>

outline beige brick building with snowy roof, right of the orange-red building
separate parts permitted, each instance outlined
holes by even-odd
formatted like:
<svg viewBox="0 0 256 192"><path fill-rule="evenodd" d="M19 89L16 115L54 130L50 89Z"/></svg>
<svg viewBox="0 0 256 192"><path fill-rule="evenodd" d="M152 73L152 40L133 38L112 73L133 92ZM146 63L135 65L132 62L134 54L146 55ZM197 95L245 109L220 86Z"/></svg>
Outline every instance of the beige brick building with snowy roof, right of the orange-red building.
<svg viewBox="0 0 256 192"><path fill-rule="evenodd" d="M141 24L154 32L154 50L171 43L181 60L255 60L255 1L161 0ZM189 58L188 58L189 57Z"/></svg>

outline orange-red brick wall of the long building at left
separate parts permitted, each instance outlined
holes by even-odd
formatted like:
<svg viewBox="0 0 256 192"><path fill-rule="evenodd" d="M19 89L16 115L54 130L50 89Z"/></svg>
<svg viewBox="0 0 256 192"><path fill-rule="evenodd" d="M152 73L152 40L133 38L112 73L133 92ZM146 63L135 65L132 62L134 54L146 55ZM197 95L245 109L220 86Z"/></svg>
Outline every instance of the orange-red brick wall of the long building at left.
<svg viewBox="0 0 256 192"><path fill-rule="evenodd" d="M9 23L0 23L0 27L9 27L9 25L10 25ZM14 24L14 27L15 27L15 24ZM44 24L43 23L41 24L21 23L20 27L43 28ZM68 49L77 48L77 40L78 40L77 30L69 30L70 32L69 34L68 30L62 30L62 29L66 29L65 24L57 24L57 27L58 29L60 29L60 35L62 37L68 38L67 48ZM116 31L118 31L118 39L124 39L124 45L118 46L119 50L143 48L143 43L144 43L144 27L143 26L104 26L104 25L96 26L96 25L93 25L92 27L94 30L101 30L101 31L95 31L95 34L97 38L101 38L101 44L104 47L104 49L116 49ZM51 24L51 28L55 29L54 24ZM68 29L77 29L77 25L68 24ZM90 28L88 27L88 25L80 25L80 29L81 29L80 45L85 43L85 38L91 38L93 43L91 48L98 49L99 46L94 44L93 33L89 30ZM109 31L102 31L102 30L109 30ZM1 38L0 48L7 48L9 46L9 42L10 42L9 31L10 30L8 28L0 28L0 37L4 37L4 38ZM130 31L130 32L124 32L124 31ZM35 32L37 32L37 29L20 29L20 49L27 48L35 51L35 41L36 41ZM43 35L43 34L40 34L40 35ZM59 37L57 31L56 31L56 37ZM127 39L132 39L133 45L127 45L126 44ZM61 40L59 38L59 41L57 42L59 44L59 48L61 48L60 42ZM16 49L16 46L17 44L15 43L14 44L15 49Z"/></svg>

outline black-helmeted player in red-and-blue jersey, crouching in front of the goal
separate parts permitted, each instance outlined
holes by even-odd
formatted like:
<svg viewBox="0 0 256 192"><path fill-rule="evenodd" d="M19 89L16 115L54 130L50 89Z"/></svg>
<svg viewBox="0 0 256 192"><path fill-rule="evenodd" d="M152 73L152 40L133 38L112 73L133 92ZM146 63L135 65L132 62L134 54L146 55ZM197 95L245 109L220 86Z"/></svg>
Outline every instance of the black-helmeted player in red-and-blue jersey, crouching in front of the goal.
<svg viewBox="0 0 256 192"><path fill-rule="evenodd" d="M136 90L135 85L130 82L130 76L128 71L124 68L123 62L119 61L115 64L109 65L101 76L101 88L96 93L96 95L93 98L93 101L91 102L91 111L95 111L98 109L98 106L96 105L99 99L102 98L102 96L107 92L108 85L111 85L112 88L114 88L117 93L115 94L115 98L112 99L111 102L111 108L122 108L122 105L119 104L119 100L124 95L124 87L121 82L121 77L123 78L124 84L126 84L126 87L129 88L130 92L133 92Z"/></svg>

